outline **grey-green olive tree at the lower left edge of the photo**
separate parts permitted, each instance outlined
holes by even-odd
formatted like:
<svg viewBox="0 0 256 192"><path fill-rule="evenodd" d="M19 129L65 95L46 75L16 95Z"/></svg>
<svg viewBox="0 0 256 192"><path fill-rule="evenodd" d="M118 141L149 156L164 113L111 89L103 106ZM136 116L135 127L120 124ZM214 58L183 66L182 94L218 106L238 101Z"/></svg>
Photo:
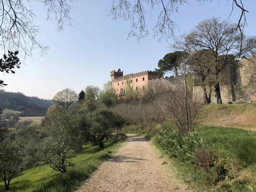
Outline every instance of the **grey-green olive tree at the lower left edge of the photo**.
<svg viewBox="0 0 256 192"><path fill-rule="evenodd" d="M17 135L5 132L0 140L0 175L6 190L15 175L38 163L35 130L24 128Z"/></svg>

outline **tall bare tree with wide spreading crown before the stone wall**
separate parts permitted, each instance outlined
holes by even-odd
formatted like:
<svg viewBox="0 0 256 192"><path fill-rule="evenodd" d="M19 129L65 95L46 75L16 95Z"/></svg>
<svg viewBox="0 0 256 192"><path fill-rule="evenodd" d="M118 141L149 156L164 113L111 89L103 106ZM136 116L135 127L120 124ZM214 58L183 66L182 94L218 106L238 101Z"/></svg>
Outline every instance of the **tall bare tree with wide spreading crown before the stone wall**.
<svg viewBox="0 0 256 192"><path fill-rule="evenodd" d="M210 49L213 54L213 65L210 73L214 74L213 87L217 103L221 104L221 92L219 83L220 72L228 65L233 64L234 59L240 56L250 56L256 53L256 37L245 36L242 39L236 24L230 21L221 21L213 17L200 22L192 32L187 35L189 46L196 49Z"/></svg>

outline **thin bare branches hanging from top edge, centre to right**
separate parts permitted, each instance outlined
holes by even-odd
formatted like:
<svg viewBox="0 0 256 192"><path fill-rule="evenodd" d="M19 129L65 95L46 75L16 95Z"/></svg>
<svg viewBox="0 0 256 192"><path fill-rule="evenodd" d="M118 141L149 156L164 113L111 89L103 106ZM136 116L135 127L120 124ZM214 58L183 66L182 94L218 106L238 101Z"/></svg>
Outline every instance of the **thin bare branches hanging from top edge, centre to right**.
<svg viewBox="0 0 256 192"><path fill-rule="evenodd" d="M198 3L204 3L204 1L212 0L196 0ZM230 0L232 2L233 12L234 6L241 10L241 16L236 25L236 29L239 29L241 37L243 36L243 29L246 25L246 13L248 11L244 8L243 0ZM144 38L149 34L148 26L146 22L146 10L148 8L154 9L156 6L160 6L162 10L157 17L157 23L153 28L154 37L159 36L161 38L170 38L174 36L177 24L174 22L172 15L178 12L180 6L189 4L188 0L112 0L111 14L114 19L123 18L124 20L130 20L132 23L131 32L128 37L137 37L138 40ZM241 22L244 19L244 22Z"/></svg>

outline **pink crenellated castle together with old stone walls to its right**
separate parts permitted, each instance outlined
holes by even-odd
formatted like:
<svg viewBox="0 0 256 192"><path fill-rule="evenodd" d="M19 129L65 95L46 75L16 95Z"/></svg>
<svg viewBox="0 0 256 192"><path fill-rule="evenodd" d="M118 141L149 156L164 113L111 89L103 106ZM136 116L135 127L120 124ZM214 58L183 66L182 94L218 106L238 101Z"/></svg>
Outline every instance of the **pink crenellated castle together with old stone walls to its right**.
<svg viewBox="0 0 256 192"><path fill-rule="evenodd" d="M252 70L252 66L255 66ZM211 75L209 75L210 77ZM220 73L220 90L223 103L256 101L256 58L243 58L227 65ZM116 95L124 95L125 87L131 84L133 90L144 90L149 80L158 79L154 71L143 71L123 75L123 71L111 71L111 85ZM166 80L177 84L178 77L167 77ZM211 96L211 102L216 103L215 91L212 86L207 86L207 94ZM204 101L204 91L200 80L194 77L193 96Z"/></svg>

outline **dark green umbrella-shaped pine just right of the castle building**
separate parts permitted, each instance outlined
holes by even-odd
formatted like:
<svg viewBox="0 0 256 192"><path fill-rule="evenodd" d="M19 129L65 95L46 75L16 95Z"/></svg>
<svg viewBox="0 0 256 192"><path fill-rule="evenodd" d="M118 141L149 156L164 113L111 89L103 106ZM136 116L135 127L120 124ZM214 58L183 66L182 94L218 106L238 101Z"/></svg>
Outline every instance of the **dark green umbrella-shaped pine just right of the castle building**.
<svg viewBox="0 0 256 192"><path fill-rule="evenodd" d="M178 68L180 67L180 57L183 55L182 51L170 52L164 55L163 59L158 61L158 69L155 69L160 76L166 72L174 72L175 76L178 75Z"/></svg>

